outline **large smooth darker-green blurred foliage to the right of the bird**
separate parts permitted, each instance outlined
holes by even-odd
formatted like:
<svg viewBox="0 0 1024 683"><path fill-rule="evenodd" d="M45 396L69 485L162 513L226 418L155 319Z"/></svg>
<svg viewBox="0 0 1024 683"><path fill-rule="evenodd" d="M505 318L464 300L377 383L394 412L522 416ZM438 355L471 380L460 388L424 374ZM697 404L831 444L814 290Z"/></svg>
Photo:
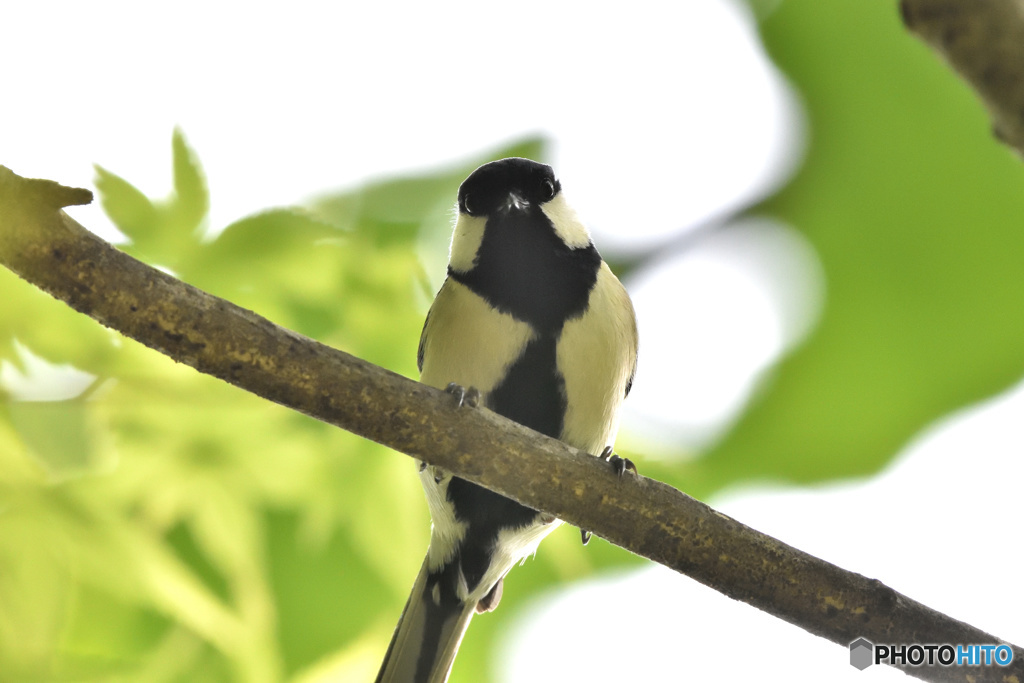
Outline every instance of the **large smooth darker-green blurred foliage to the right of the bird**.
<svg viewBox="0 0 1024 683"><path fill-rule="evenodd" d="M807 237L826 299L726 438L671 475L697 496L877 472L1024 374L1024 166L975 94L896 2L785 0L761 33L809 140L793 180L751 212Z"/></svg>

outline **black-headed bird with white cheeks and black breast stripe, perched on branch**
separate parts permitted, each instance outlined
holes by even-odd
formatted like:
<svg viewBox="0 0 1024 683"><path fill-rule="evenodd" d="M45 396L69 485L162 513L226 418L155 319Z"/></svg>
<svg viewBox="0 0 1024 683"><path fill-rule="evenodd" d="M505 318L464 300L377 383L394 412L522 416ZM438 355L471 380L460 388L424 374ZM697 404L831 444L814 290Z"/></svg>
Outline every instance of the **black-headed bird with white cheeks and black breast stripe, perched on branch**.
<svg viewBox="0 0 1024 683"><path fill-rule="evenodd" d="M552 168L509 158L473 171L420 336L421 382L635 473L612 443L637 346L630 297ZM378 683L446 681L473 614L498 606L505 574L561 523L433 465L419 475L430 544Z"/></svg>

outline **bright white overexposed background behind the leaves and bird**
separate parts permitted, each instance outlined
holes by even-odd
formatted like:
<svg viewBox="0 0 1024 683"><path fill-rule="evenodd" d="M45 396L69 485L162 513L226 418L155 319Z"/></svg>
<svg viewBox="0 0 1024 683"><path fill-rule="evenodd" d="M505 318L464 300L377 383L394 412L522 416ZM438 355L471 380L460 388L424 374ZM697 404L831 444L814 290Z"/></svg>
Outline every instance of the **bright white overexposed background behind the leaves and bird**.
<svg viewBox="0 0 1024 683"><path fill-rule="evenodd" d="M98 163L159 196L180 125L205 166L216 228L542 133L599 247L652 244L784 180L801 114L744 8L596 7L17 3L0 18L0 163L79 186ZM109 225L95 206L74 213ZM707 444L826 305L825 276L795 230L730 236L629 283L646 372L627 430ZM664 314L666 297L677 314ZM1021 643L1014 540L989 523L1019 518L1021 414L1017 390L928 430L870 481L711 503ZM956 522L963 507L979 520L969 533L920 523ZM788 681L902 680L856 672L843 648L659 568L529 611L507 637L508 681L728 680L722 661Z"/></svg>

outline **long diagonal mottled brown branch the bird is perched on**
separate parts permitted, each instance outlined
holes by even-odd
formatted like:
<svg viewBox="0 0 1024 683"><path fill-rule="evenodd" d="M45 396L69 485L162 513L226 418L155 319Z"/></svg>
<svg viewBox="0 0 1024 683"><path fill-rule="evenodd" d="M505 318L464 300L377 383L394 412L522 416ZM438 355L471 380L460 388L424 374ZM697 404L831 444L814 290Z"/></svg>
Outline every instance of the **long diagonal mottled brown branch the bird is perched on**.
<svg viewBox="0 0 1024 683"><path fill-rule="evenodd" d="M760 533L669 485L616 478L598 459L269 321L152 268L59 210L91 194L0 166L0 262L179 362L592 529L846 646L996 643L860 574ZM907 667L933 681L1024 681L1010 667ZM1005 676L1016 676L1004 678Z"/></svg>

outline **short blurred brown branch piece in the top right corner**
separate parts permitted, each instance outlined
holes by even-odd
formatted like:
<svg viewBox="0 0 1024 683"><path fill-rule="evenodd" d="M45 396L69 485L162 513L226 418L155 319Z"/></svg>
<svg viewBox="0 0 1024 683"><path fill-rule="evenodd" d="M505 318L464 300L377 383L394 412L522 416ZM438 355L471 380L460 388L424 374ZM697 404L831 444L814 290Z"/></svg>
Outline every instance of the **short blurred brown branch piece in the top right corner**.
<svg viewBox="0 0 1024 683"><path fill-rule="evenodd" d="M978 92L995 136L1024 156L1024 3L902 0L900 12Z"/></svg>

